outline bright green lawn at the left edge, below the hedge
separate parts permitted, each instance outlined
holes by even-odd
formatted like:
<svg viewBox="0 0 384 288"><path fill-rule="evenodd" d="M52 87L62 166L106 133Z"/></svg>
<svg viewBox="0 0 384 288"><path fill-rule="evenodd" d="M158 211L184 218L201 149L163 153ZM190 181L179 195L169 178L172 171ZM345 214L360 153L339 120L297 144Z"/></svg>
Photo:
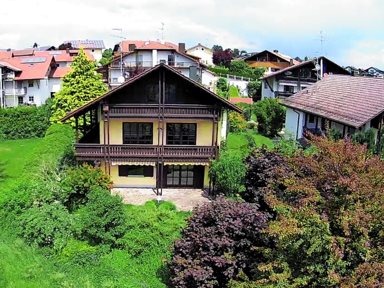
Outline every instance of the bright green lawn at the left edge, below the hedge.
<svg viewBox="0 0 384 288"><path fill-rule="evenodd" d="M0 141L0 165L5 169L5 179L0 180L0 187L5 188L20 174L23 164L40 139L21 139Z"/></svg>

